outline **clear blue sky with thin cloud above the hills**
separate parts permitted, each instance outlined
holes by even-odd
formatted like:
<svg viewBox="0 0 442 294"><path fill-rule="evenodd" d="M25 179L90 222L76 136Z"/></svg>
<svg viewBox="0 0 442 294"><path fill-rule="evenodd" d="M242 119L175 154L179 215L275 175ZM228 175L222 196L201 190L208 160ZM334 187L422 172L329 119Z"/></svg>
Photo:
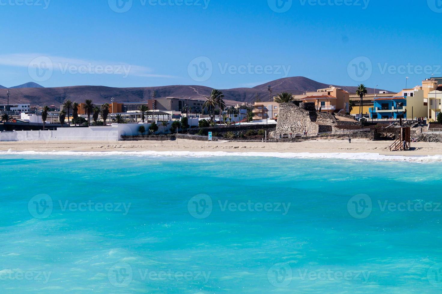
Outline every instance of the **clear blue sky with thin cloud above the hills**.
<svg viewBox="0 0 442 294"><path fill-rule="evenodd" d="M442 76L440 0L124 1L0 0L0 84L223 89L303 75L400 90Z"/></svg>

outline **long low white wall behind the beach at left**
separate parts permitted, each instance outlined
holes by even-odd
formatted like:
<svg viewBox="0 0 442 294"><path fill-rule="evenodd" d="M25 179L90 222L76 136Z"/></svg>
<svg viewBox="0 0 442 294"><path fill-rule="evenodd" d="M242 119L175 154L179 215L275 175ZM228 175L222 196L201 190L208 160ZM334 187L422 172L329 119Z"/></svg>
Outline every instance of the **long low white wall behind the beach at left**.
<svg viewBox="0 0 442 294"><path fill-rule="evenodd" d="M1 132L0 141L119 141L121 136L137 136L141 125L146 130L150 124L112 124L107 127L57 128L56 131ZM162 127L159 128L159 132Z"/></svg>

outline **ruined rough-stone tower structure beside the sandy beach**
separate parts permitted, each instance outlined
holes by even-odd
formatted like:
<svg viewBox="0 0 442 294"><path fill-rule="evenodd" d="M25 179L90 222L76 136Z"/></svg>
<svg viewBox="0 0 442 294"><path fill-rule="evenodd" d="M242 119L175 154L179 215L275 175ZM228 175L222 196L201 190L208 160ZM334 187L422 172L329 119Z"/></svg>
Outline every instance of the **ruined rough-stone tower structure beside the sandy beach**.
<svg viewBox="0 0 442 294"><path fill-rule="evenodd" d="M328 113L318 113L314 103L283 103L279 105L278 124L275 136L288 134L309 134L331 132L331 126L336 124L334 116Z"/></svg>

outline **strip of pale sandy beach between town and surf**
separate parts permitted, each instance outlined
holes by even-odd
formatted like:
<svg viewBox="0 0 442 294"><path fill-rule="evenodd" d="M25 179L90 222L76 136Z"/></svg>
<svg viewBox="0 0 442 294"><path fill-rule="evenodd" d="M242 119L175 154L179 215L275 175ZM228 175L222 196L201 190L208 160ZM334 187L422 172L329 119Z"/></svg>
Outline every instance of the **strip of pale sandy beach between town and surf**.
<svg viewBox="0 0 442 294"><path fill-rule="evenodd" d="M389 151L392 141L320 139L296 143L261 143L187 139L178 141L60 141L0 142L0 151L225 151L225 152L309 152L309 153L377 153L381 155L442 155L442 143L412 143L410 151Z"/></svg>

